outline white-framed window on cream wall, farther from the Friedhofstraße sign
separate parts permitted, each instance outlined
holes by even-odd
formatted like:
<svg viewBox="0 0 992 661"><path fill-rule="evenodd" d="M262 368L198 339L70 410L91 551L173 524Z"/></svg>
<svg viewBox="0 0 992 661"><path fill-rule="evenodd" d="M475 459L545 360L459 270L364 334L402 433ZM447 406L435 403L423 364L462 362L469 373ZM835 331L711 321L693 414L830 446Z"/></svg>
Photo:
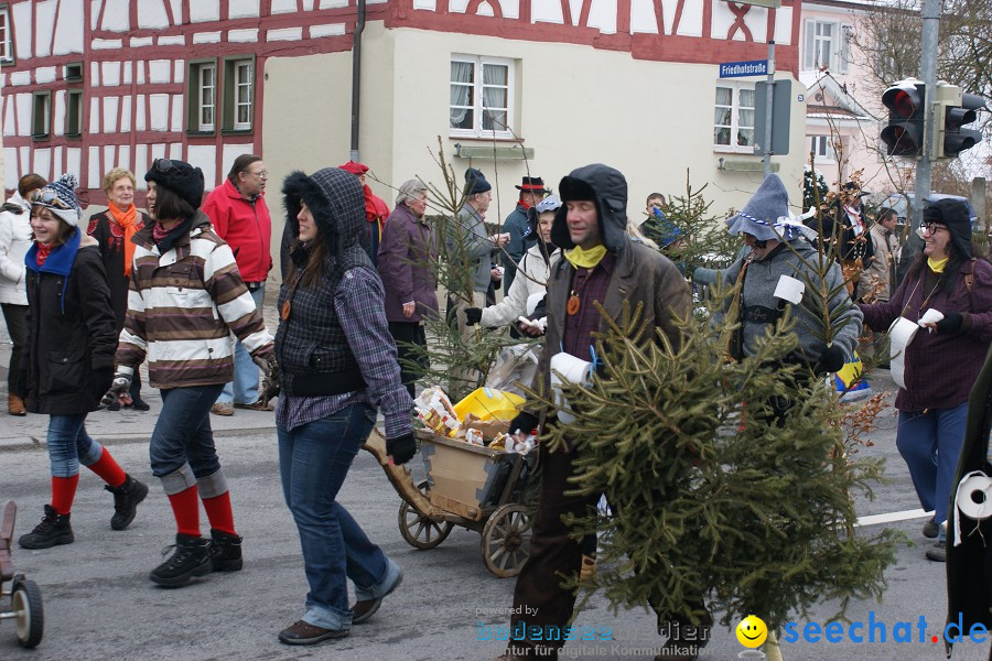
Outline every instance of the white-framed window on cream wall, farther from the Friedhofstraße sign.
<svg viewBox="0 0 992 661"><path fill-rule="evenodd" d="M466 138L514 137L514 62L498 57L451 58L451 134Z"/></svg>

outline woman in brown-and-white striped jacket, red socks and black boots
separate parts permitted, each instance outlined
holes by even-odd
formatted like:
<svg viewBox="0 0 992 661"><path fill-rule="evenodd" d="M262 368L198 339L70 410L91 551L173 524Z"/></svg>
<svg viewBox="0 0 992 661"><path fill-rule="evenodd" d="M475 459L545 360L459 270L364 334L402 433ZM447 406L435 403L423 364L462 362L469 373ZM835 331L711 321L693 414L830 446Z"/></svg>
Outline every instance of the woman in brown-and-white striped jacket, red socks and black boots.
<svg viewBox="0 0 992 661"><path fill-rule="evenodd" d="M241 538L209 410L234 373L231 333L268 371L274 353L230 248L198 210L201 170L158 159L144 180L154 223L133 237L128 313L108 397L126 392L148 358L149 381L162 391L151 437L152 473L162 480L177 528L174 553L149 578L174 587L211 571L241 568ZM209 540L200 533L200 500L211 522Z"/></svg>

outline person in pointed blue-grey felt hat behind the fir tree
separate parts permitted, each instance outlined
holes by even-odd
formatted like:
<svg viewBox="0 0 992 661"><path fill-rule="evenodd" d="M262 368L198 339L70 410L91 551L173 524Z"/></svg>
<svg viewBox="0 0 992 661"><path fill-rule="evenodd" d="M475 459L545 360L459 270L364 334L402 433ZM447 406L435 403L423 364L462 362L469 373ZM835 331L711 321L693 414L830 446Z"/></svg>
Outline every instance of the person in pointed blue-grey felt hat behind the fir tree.
<svg viewBox="0 0 992 661"><path fill-rule="evenodd" d="M809 294L800 294L792 301L775 297L776 288L784 278L798 280L804 290L808 286L807 280L816 282L819 278L807 266L817 261L816 249L809 243L817 234L802 225L802 217L789 212L788 193L778 175L765 177L744 209L731 216L726 225L730 234L742 236L751 247L750 253L724 271L724 281L730 284L743 280L741 329L731 347L732 357L740 359L755 355L758 340L783 316L786 305L791 305L792 316L798 322L794 332L799 336L799 348L790 360L810 366L816 373L838 371L844 362L853 360L862 315L850 299L840 294L830 300L831 316L834 312L840 316L833 325L834 336L824 343L823 319ZM827 291L833 291L841 283L841 269L833 263L823 284Z"/></svg>

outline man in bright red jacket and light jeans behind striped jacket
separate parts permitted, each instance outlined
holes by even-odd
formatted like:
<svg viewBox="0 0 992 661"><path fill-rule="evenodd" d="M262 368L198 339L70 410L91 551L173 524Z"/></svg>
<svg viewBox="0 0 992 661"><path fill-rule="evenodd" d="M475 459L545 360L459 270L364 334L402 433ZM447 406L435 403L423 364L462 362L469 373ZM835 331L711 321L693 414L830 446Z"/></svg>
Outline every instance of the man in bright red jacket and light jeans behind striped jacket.
<svg viewBox="0 0 992 661"><path fill-rule="evenodd" d="M266 278L272 268L272 218L265 198L268 180L261 156L241 154L235 159L227 180L211 191L202 207L213 221L214 231L234 251L241 280L259 313L266 297ZM211 412L234 415L235 409L271 411L271 405L258 401L258 367L241 343L235 342L234 382L224 387Z"/></svg>

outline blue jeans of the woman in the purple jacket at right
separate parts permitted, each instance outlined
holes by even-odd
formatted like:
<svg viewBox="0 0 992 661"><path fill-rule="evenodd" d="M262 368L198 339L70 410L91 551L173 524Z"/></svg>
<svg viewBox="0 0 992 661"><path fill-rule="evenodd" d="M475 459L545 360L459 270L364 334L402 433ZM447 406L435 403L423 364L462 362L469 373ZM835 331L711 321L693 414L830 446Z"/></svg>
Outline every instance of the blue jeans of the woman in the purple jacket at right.
<svg viewBox="0 0 992 661"><path fill-rule="evenodd" d="M899 411L896 447L909 467L919 503L925 510L935 510L934 520L938 523L947 521L967 420L967 402L953 409L930 409L926 413ZM946 537L941 529L938 539Z"/></svg>

